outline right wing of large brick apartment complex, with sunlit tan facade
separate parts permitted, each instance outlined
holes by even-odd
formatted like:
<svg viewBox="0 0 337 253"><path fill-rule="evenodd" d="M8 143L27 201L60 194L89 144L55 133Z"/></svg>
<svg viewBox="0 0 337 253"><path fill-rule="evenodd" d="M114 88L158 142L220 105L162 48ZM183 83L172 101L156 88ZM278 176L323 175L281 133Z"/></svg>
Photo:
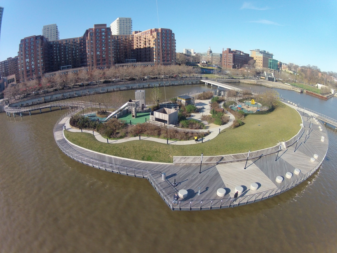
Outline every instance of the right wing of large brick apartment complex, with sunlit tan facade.
<svg viewBox="0 0 337 253"><path fill-rule="evenodd" d="M176 39L171 29L134 31L133 51L137 62L172 65L176 62Z"/></svg>

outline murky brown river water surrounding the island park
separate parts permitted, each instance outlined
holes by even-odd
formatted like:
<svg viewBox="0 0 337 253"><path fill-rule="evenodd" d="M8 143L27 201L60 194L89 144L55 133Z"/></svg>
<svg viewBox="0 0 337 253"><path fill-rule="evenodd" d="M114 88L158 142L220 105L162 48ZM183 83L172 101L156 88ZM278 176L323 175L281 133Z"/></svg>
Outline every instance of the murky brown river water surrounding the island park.
<svg viewBox="0 0 337 253"><path fill-rule="evenodd" d="M166 88L166 96L189 87ZM337 118L335 97L278 92ZM146 179L65 156L53 138L65 112L0 114L0 252L337 252L334 129L321 168L292 190L235 208L173 212Z"/></svg>

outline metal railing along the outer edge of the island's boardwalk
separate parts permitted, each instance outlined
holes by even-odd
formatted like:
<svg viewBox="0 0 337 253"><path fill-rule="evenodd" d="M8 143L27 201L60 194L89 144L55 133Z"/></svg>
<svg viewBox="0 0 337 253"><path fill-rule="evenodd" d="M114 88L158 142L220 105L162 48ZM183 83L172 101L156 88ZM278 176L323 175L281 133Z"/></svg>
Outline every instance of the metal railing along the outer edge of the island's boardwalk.
<svg viewBox="0 0 337 253"><path fill-rule="evenodd" d="M78 151L74 150L68 143L68 141L63 136L63 124L60 124L60 122L67 116L71 116L75 114L76 112L80 111L81 109L74 109L70 112L67 112L64 114L55 124L53 134L54 138L57 142L58 147L64 152L67 156L70 158L81 162L83 164L86 164L88 166L92 166L94 168L102 169L105 171L115 172L119 174L129 175L129 176L135 176L135 177L143 177L147 178L150 182L150 184L153 186L153 188L157 191L159 196L164 200L164 202L172 209L172 210L202 210L202 209L214 209L214 208L226 208L226 207L234 207L238 205L244 205L249 203L254 203L256 201L264 200L270 197L273 197L275 195L278 195L282 192L285 192L304 180L306 180L309 176L311 176L321 165L323 162L326 153L323 157L323 159L308 173L304 174L300 178L297 178L295 181L289 182L288 184L285 184L283 186L270 189L264 192L259 192L256 194L250 194L245 195L242 197L238 197L236 199L234 198L223 198L223 199L209 199L209 200L186 200L186 201L178 201L175 202L166 192L165 190L160 186L160 184L155 180L155 178L152 176L151 172L154 173L160 173L159 171L149 171L149 170L143 170L139 168L133 168L128 166L122 166L119 164L113 164L108 163L104 161L100 161L97 159L89 158L86 156L81 155ZM326 128L323 127L325 133L327 133ZM298 135L302 132L303 128L299 131ZM57 140L57 133L62 135L63 143L60 143L60 141ZM294 136L292 139L296 139ZM328 139L327 135L327 140ZM289 141L292 142L292 139Z"/></svg>

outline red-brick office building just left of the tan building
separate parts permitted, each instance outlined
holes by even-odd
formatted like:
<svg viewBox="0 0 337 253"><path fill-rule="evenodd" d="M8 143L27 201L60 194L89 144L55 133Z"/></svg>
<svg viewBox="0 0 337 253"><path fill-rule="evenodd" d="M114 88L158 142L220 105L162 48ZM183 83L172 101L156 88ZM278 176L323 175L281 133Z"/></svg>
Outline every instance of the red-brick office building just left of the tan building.
<svg viewBox="0 0 337 253"><path fill-rule="evenodd" d="M223 68L242 68L248 64L248 61L253 58L249 54L240 50L231 50L227 48L226 51L222 49L222 67Z"/></svg>

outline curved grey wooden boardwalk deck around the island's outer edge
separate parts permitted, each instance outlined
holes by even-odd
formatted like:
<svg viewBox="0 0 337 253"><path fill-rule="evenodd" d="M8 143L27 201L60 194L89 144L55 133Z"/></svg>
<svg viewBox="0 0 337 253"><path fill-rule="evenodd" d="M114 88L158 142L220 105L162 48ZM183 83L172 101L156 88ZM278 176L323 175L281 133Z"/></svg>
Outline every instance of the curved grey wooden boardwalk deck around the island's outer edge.
<svg viewBox="0 0 337 253"><path fill-rule="evenodd" d="M278 154L279 144L251 152L246 166L247 153L204 157L200 166L200 157L179 158L178 162L169 164L124 159L87 150L70 143L63 135L71 113L57 122L54 136L60 149L79 162L114 173L147 178L172 210L203 210L233 207L272 197L293 188L315 172L325 158L328 135L320 122L316 123L312 118L313 124L309 128L310 118L307 121L306 115L300 115L303 127L292 139L281 143ZM294 173L295 169L300 170L299 174ZM286 177L287 172L291 173L288 173L290 178ZM164 180L163 173L166 174ZM276 181L277 176L281 176L281 182ZM174 179L176 187L172 186ZM251 188L252 183L257 184L256 190ZM234 199L235 189L240 186L242 192ZM219 188L225 189L225 196L217 196ZM181 189L187 190L187 197L180 198L175 205L173 195Z"/></svg>

